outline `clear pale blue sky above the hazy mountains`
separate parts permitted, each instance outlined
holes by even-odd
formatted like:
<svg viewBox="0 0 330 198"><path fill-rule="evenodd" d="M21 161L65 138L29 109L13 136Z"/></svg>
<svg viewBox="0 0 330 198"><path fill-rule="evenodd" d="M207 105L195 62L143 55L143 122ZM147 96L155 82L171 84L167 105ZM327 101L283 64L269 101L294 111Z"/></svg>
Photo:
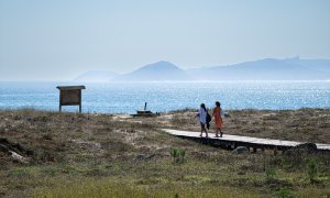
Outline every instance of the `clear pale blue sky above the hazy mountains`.
<svg viewBox="0 0 330 198"><path fill-rule="evenodd" d="M0 81L330 58L329 0L0 0Z"/></svg>

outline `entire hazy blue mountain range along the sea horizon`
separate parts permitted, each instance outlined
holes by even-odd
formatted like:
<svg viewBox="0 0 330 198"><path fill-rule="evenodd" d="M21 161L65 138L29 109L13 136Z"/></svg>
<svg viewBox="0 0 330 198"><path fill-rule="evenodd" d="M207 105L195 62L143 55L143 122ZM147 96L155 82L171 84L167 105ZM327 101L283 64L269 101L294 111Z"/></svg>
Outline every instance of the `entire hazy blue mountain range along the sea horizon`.
<svg viewBox="0 0 330 198"><path fill-rule="evenodd" d="M132 73L118 75L90 70L75 81L186 81L186 80L330 80L330 59L299 57L265 58L240 64L183 70L169 62L145 65Z"/></svg>

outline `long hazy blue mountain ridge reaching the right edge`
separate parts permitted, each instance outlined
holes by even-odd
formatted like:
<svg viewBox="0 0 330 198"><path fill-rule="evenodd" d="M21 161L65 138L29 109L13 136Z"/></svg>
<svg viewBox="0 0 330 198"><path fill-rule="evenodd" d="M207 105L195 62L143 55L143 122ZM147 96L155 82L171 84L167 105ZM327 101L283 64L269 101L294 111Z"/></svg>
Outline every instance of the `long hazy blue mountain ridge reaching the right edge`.
<svg viewBox="0 0 330 198"><path fill-rule="evenodd" d="M327 80L330 79L330 61L265 58L187 73L197 80Z"/></svg>

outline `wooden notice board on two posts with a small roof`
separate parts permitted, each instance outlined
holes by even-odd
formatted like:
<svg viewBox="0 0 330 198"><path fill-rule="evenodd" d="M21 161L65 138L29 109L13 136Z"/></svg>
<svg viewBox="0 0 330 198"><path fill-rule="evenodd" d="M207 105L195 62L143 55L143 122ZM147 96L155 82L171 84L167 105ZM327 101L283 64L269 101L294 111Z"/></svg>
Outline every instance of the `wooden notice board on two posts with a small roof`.
<svg viewBox="0 0 330 198"><path fill-rule="evenodd" d="M79 106L79 112L81 112L81 89L86 89L85 86L57 86L59 89L59 112L62 106Z"/></svg>

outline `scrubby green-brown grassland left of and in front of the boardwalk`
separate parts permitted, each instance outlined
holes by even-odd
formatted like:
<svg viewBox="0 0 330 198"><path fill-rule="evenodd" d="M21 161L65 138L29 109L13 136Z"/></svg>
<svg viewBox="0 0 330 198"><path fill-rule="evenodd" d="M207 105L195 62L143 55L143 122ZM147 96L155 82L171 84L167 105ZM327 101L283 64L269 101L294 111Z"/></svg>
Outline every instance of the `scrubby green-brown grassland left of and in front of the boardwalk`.
<svg viewBox="0 0 330 198"><path fill-rule="evenodd" d="M184 129L197 125L188 119L194 112L172 113L184 118L180 120ZM266 151L234 155L157 130L172 124L173 117L168 114L130 119L0 111L1 139L11 146L21 146L18 153L29 158L28 164L19 163L0 151L0 197L327 197L330 194L329 154L273 155Z"/></svg>

